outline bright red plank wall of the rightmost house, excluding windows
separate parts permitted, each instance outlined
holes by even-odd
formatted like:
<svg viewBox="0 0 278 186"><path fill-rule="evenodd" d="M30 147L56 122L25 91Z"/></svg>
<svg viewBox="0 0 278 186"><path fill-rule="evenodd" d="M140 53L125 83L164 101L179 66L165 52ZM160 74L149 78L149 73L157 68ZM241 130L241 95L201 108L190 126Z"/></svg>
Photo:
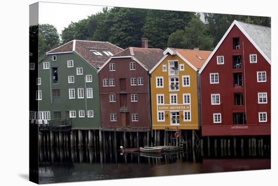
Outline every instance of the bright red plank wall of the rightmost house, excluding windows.
<svg viewBox="0 0 278 186"><path fill-rule="evenodd" d="M240 37L240 50L233 49L233 37ZM250 54L257 54L257 63L250 63ZM233 69L234 55L242 56L242 69ZM217 65L216 56L224 56L224 65ZM257 82L257 71L266 71L266 82ZM243 72L243 87L234 88L233 72ZM219 73L219 84L210 84L210 73ZM201 73L202 135L270 135L270 75L270 64L235 25ZM243 92L246 104L235 106L234 92ZM267 104L258 104L258 92L267 92ZM217 93L221 104L211 105L211 94ZM233 113L245 110L252 127L233 129ZM258 112L267 112L267 122L259 122ZM221 113L221 123L213 123L213 113Z"/></svg>

